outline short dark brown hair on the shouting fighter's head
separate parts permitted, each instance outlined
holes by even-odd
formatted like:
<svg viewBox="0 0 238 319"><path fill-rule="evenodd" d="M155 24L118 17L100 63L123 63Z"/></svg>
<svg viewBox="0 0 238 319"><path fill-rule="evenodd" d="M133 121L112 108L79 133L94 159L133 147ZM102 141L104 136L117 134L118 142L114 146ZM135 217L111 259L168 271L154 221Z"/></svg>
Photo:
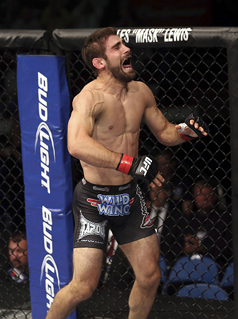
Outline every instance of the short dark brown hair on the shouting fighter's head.
<svg viewBox="0 0 238 319"><path fill-rule="evenodd" d="M107 38L111 35L116 35L116 29L112 27L103 28L96 30L94 33L90 34L85 40L82 49L83 61L87 67L94 72L94 75L98 75L98 69L94 67L92 61L94 58L103 58L105 56L105 43Z"/></svg>

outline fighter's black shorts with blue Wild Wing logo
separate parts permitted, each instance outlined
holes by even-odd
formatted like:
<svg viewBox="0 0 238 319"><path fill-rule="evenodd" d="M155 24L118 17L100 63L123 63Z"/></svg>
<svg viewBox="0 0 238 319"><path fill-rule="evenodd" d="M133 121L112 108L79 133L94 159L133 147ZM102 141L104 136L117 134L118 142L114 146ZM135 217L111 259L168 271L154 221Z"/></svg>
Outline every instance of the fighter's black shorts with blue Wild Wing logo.
<svg viewBox="0 0 238 319"><path fill-rule="evenodd" d="M136 181L124 185L94 185L82 179L73 198L74 248L104 250L110 228L119 245L155 233L153 221Z"/></svg>

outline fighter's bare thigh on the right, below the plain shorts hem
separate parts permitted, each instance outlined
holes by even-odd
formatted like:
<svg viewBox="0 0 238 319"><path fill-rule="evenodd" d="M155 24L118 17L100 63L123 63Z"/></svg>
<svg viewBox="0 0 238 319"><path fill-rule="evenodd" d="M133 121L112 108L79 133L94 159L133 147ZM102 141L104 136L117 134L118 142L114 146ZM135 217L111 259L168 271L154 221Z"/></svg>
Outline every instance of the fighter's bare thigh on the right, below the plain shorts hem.
<svg viewBox="0 0 238 319"><path fill-rule="evenodd" d="M160 258L159 241L156 234L141 238L125 245L120 245L127 256L136 276L153 272L158 267Z"/></svg>

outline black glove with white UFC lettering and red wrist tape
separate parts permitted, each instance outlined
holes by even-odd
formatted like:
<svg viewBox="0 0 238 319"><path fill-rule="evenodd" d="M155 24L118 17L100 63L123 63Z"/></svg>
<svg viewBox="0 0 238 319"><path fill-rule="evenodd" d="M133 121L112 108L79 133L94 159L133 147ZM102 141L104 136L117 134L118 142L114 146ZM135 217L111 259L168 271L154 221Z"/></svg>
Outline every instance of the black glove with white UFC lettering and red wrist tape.
<svg viewBox="0 0 238 319"><path fill-rule="evenodd" d="M150 184L159 172L159 163L151 155L132 157L122 154L116 170Z"/></svg>

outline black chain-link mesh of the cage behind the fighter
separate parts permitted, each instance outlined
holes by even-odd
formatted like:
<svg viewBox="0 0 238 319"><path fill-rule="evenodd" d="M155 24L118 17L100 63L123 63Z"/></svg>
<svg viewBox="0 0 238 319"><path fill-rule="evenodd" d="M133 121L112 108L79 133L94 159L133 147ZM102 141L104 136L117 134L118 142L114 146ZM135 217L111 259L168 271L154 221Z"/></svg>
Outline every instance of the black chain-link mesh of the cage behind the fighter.
<svg viewBox="0 0 238 319"><path fill-rule="evenodd" d="M20 53L32 53L32 50L0 50L0 317L3 318L30 318L28 280L17 283L8 278L8 240L14 231L23 231L25 226L16 85L16 56ZM65 52L65 56L69 92L73 99L94 77L85 67L79 51ZM141 123L139 153L157 156L165 178L163 187L155 191L140 183L158 231L162 251L162 280L151 318L230 318L234 294L232 267L231 272L225 274L226 267L232 261L230 110L226 50L133 48L133 65L138 80L149 85L160 110L169 121L182 123L193 112L202 116L210 128L210 136L206 138L175 147L164 147L151 134L147 125ZM83 177L83 172L75 158L72 158L72 165L75 186ZM211 186L212 213L205 217L197 212L194 192L198 180L204 182L204 186L199 184L199 194L203 193L207 184ZM204 201L208 203L210 195L205 196ZM200 229L201 225L204 229ZM205 233L207 236L203 239ZM189 234L192 239L188 238ZM194 254L183 253L185 238L190 239L191 245L193 238L202 240L199 247L203 246L204 250L197 247ZM192 246L195 247L195 243ZM212 259L211 263L205 260L205 255ZM190 259L183 259L189 256ZM180 264L178 270L176 262ZM192 269L187 267L190 262ZM202 267L204 264L205 270ZM180 278L182 270L186 272L183 279ZM127 300L133 280L133 271L127 258L109 234L98 288L92 298L78 306L78 318L127 318ZM222 280L224 284L221 286ZM178 297L180 288L189 283L198 287L199 291L204 290L197 283L208 283L206 290L210 290L213 284L219 285L219 291L221 288L226 291L226 301L221 300L220 296L218 298L218 293L215 293L212 301L199 298L194 302L193 298ZM185 296L191 296L192 293L193 289L188 288ZM204 292L202 296L205 296Z"/></svg>

